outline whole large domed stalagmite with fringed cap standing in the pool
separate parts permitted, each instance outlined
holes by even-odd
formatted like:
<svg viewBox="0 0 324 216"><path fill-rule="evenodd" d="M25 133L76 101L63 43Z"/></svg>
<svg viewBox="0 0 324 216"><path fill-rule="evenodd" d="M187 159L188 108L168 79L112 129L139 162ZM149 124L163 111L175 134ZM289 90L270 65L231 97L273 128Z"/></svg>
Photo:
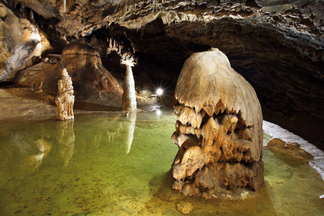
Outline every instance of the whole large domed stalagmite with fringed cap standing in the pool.
<svg viewBox="0 0 324 216"><path fill-rule="evenodd" d="M252 86L222 52L193 54L183 65L173 105L179 147L173 188L211 196L263 183L262 112ZM206 195L207 193L207 195Z"/></svg>

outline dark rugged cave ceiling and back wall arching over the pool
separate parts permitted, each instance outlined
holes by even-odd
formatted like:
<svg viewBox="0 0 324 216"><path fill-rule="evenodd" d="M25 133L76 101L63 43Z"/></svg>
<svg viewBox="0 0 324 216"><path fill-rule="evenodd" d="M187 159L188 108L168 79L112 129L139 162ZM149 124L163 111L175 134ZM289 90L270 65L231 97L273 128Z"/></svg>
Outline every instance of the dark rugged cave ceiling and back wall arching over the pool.
<svg viewBox="0 0 324 216"><path fill-rule="evenodd" d="M111 54L115 43L119 56L137 58L135 76L175 84L191 54L218 48L256 90L265 119L324 140L322 0L4 2L47 34L54 53L83 39L108 70L125 71Z"/></svg>

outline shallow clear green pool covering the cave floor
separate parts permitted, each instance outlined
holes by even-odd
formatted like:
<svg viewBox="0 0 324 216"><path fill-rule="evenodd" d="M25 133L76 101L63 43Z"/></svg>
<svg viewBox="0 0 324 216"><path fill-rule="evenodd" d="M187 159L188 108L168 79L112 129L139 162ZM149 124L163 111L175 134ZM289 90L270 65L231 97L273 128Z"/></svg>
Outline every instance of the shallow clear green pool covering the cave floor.
<svg viewBox="0 0 324 216"><path fill-rule="evenodd" d="M178 147L171 109L0 125L1 215L320 215L324 183L307 163L264 149L265 184L244 200L171 189ZM265 143L270 137L265 135Z"/></svg>

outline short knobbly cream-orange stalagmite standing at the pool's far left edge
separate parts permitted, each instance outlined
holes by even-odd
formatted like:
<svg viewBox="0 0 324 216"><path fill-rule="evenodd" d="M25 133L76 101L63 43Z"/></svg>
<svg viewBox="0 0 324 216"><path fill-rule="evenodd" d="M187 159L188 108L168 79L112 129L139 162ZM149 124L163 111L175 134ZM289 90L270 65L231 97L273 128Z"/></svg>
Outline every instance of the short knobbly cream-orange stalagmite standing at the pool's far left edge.
<svg viewBox="0 0 324 216"><path fill-rule="evenodd" d="M57 118L59 120L68 120L74 118L73 115L73 86L71 77L66 72L66 68L62 71L62 79L58 81L58 94L55 99L57 106Z"/></svg>

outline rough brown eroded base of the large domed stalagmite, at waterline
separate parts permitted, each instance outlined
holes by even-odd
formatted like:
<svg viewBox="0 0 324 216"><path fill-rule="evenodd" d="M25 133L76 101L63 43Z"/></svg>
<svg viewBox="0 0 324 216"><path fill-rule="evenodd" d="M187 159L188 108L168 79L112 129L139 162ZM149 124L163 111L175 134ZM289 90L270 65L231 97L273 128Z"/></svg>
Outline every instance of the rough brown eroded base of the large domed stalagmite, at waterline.
<svg viewBox="0 0 324 216"><path fill-rule="evenodd" d="M203 198L227 194L226 191L234 193L233 190L238 188L248 187L246 191L252 191L258 190L264 182L263 173L263 161L250 164L219 162L197 170L191 179L176 180L172 188L184 195L201 195Z"/></svg>

